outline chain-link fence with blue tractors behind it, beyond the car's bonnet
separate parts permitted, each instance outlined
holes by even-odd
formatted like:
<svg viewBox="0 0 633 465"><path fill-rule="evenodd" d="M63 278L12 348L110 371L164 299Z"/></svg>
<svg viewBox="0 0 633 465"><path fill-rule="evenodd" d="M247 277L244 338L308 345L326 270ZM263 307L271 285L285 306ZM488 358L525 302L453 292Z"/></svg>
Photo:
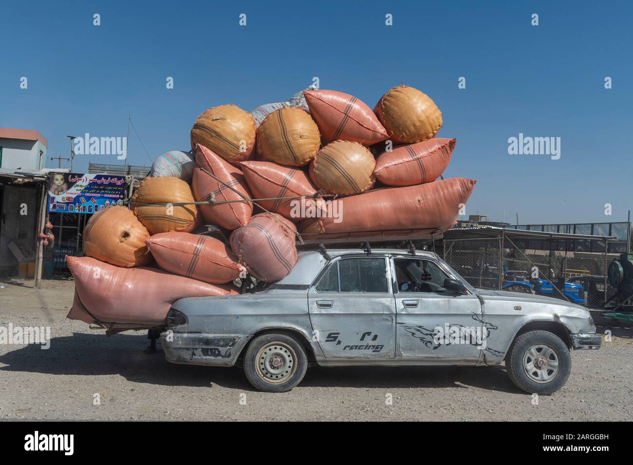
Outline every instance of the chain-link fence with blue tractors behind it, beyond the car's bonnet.
<svg viewBox="0 0 633 465"><path fill-rule="evenodd" d="M518 245L507 237L445 239L443 254L474 287L546 295L591 309L603 308L615 292L606 278L608 263L615 255Z"/></svg>

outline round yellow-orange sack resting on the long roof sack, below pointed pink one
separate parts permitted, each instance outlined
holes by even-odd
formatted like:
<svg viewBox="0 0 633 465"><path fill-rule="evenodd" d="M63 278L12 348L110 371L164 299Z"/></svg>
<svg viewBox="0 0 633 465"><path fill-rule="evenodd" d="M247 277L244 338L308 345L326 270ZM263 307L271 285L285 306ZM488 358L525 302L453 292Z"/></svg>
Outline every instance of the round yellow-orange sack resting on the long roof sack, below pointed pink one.
<svg viewBox="0 0 633 465"><path fill-rule="evenodd" d="M372 152L358 142L337 140L323 147L310 164L310 178L329 194L360 194L372 189L376 178Z"/></svg>

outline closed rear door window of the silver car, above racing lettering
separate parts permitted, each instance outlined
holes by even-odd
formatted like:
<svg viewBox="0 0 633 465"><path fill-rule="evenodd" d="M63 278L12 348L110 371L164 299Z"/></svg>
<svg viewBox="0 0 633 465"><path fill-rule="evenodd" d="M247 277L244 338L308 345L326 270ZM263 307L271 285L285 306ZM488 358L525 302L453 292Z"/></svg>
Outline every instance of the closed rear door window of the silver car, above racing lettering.
<svg viewBox="0 0 633 465"><path fill-rule="evenodd" d="M316 292L389 292L384 258L356 257L335 261Z"/></svg>

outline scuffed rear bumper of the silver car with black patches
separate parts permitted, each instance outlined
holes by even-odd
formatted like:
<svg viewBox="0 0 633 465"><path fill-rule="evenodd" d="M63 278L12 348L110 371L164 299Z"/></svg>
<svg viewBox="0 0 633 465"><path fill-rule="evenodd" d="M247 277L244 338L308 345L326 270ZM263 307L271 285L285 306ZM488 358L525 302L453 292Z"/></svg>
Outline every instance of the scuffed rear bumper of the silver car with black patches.
<svg viewBox="0 0 633 465"><path fill-rule="evenodd" d="M163 332L160 343L171 363L234 366L248 335Z"/></svg>

